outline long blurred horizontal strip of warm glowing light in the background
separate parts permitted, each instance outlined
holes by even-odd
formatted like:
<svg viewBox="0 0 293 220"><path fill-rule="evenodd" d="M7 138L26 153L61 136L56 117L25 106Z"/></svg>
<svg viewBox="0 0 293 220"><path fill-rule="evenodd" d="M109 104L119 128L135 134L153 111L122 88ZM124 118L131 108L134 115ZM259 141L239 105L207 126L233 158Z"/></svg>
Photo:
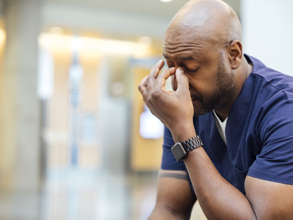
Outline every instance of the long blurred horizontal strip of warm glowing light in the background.
<svg viewBox="0 0 293 220"><path fill-rule="evenodd" d="M91 51L106 54L129 54L143 56L149 53L149 45L141 42L127 40L112 40L102 38L79 37L54 33L41 33L38 43L49 50L72 49L72 45L78 43L79 51Z"/></svg>

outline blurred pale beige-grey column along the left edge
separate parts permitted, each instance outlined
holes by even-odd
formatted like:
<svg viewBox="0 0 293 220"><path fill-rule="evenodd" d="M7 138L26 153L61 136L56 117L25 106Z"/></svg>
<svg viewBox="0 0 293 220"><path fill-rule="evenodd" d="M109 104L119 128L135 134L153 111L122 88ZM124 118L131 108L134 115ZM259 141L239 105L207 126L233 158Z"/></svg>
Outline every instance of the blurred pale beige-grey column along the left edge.
<svg viewBox="0 0 293 220"><path fill-rule="evenodd" d="M38 190L40 101L37 98L37 37L40 1L6 0L6 46L1 77L0 186Z"/></svg>

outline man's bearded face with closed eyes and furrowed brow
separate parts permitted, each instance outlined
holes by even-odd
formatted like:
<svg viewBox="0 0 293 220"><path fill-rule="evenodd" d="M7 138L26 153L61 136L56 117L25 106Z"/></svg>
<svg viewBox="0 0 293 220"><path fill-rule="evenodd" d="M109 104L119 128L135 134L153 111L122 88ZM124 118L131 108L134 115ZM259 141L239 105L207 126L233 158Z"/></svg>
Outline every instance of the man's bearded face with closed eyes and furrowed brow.
<svg viewBox="0 0 293 220"><path fill-rule="evenodd" d="M163 55L168 67L182 67L188 77L194 116L221 107L234 93L235 75L222 51L200 42L178 44L165 37ZM172 76L172 88L177 89L176 76Z"/></svg>

